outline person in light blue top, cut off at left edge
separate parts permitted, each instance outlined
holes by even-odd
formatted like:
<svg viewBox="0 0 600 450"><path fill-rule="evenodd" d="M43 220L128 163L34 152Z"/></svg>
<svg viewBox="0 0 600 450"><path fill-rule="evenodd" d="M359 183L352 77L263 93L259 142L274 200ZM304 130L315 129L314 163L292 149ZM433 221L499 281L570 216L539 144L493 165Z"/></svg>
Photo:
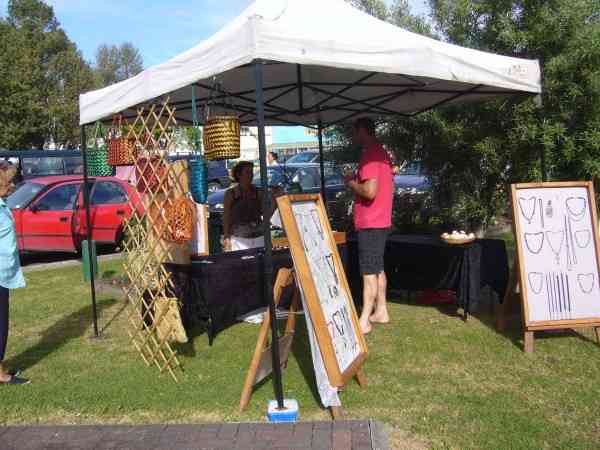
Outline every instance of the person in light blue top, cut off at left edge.
<svg viewBox="0 0 600 450"><path fill-rule="evenodd" d="M0 184L0 384L27 384L29 380L7 371L3 365L8 341L9 289L25 287L19 261L15 222L4 203L9 186Z"/></svg>

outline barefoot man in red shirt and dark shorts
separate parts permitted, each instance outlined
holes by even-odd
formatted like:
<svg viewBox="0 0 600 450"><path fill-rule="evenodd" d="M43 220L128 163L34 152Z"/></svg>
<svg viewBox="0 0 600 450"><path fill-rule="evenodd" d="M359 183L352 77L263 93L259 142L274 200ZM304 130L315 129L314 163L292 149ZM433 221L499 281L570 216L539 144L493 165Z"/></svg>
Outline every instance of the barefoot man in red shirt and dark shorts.
<svg viewBox="0 0 600 450"><path fill-rule="evenodd" d="M361 118L354 123L354 141L363 147L356 174L349 174L346 183L356 194L354 228L358 235L360 271L363 277L363 309L360 327L363 334L372 323L390 321L387 303L387 278L384 253L392 226L394 177L392 161L375 137L375 124Z"/></svg>

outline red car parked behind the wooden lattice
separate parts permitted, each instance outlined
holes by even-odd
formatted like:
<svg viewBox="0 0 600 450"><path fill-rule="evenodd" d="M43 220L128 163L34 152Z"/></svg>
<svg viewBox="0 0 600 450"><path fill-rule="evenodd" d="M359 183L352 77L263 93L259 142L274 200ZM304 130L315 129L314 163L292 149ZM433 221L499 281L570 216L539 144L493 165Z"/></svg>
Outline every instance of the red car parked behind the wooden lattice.
<svg viewBox="0 0 600 450"><path fill-rule="evenodd" d="M132 205L142 212L136 189L114 177L90 178L92 239L99 244L118 244L123 222ZM82 176L32 178L7 199L23 252L79 252L87 236Z"/></svg>

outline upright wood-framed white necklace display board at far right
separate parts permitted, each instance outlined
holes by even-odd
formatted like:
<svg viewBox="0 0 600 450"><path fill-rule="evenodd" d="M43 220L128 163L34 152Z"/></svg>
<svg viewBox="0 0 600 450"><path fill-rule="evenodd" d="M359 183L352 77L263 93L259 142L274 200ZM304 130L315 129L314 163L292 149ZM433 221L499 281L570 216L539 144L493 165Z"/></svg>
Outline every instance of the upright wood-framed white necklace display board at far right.
<svg viewBox="0 0 600 450"><path fill-rule="evenodd" d="M512 205L526 351L533 350L533 331L600 326L593 184L514 184Z"/></svg>

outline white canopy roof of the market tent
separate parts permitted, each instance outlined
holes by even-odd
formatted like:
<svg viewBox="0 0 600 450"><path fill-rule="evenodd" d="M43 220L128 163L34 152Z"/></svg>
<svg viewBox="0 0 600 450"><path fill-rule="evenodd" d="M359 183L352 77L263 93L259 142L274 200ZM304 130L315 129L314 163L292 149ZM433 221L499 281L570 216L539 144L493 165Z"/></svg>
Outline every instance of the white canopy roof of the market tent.
<svg viewBox="0 0 600 450"><path fill-rule="evenodd" d="M159 38L159 37L158 37ZM358 115L413 115L440 104L541 92L538 61L446 44L378 20L344 0L257 0L221 31L139 75L80 96L80 123L169 96L191 121L213 77L243 125L254 125L253 61L264 61L268 125L324 125Z"/></svg>

